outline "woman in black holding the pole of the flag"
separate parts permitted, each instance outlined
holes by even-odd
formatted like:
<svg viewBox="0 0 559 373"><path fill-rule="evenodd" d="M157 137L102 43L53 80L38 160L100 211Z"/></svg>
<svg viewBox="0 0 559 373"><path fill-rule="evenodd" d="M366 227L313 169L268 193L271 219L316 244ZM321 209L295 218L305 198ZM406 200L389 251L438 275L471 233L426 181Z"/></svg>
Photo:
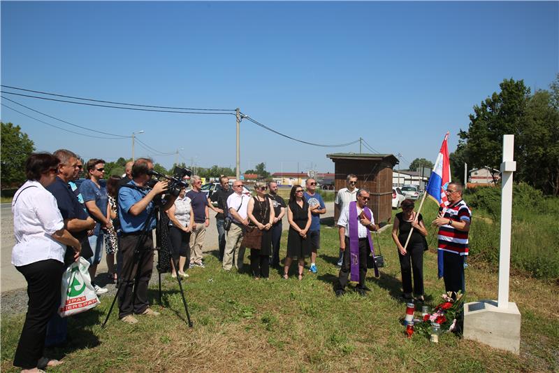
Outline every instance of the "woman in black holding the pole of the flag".
<svg viewBox="0 0 559 373"><path fill-rule="evenodd" d="M414 270L413 292L417 300L423 301L423 251L425 250L424 237L427 230L423 225L423 216L414 211L412 199L404 199L402 212L396 214L394 226L392 227L392 239L398 246L398 256L400 257L400 269L402 270L402 288L404 297L412 299L412 268ZM412 237L409 239L407 248L404 250L409 230L414 228ZM411 260L411 265L410 265Z"/></svg>

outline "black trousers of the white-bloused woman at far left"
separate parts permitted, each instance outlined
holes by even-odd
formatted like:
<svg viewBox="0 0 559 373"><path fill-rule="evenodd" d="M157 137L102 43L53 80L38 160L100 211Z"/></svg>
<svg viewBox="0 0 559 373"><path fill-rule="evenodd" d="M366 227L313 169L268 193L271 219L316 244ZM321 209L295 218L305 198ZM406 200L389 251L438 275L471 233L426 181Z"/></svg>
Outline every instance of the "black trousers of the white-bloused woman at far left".
<svg viewBox="0 0 559 373"><path fill-rule="evenodd" d="M64 263L48 259L15 267L27 281L27 314L13 365L33 369L43 357L47 324L60 302Z"/></svg>

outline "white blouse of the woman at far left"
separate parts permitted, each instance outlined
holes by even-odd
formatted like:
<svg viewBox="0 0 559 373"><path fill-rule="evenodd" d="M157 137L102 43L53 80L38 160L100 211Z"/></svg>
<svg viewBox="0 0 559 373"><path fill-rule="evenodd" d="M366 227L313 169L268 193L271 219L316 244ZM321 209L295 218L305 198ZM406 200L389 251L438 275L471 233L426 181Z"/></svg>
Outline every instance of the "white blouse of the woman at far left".
<svg viewBox="0 0 559 373"><path fill-rule="evenodd" d="M30 185L34 186L27 188ZM64 262L66 246L51 237L64 228L55 196L38 181L27 181L15 192L12 213L15 235L13 265L21 267L48 259Z"/></svg>

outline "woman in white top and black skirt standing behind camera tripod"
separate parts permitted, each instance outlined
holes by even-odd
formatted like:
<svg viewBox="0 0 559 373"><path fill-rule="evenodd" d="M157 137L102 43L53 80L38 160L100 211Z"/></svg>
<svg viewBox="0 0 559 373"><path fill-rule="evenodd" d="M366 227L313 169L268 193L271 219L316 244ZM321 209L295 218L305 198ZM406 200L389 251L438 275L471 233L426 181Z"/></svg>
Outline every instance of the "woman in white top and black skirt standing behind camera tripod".
<svg viewBox="0 0 559 373"><path fill-rule="evenodd" d="M177 277L176 262L178 262L179 276L188 277L188 274L184 272L184 265L190 262L189 241L192 227L194 227L194 210L192 209L191 200L189 197L186 197L186 194L186 189L182 188L179 196L175 199L175 204L167 210L169 236L173 245L173 258L170 261L170 267L173 269L171 276L173 278Z"/></svg>

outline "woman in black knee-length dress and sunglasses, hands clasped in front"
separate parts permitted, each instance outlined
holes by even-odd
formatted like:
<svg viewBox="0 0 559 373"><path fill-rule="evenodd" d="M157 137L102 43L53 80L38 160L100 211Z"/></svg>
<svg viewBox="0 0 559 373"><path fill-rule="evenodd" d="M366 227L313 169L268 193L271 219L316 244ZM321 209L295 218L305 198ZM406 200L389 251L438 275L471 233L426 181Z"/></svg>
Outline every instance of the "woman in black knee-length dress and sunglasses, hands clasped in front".
<svg viewBox="0 0 559 373"><path fill-rule="evenodd" d="M299 280L303 279L305 258L310 256L310 238L307 238L311 216L309 204L303 198L303 187L294 185L289 193L287 205L287 221L289 221L289 235L287 236L287 257L285 258L284 279L289 278L289 267L293 259L299 261Z"/></svg>

